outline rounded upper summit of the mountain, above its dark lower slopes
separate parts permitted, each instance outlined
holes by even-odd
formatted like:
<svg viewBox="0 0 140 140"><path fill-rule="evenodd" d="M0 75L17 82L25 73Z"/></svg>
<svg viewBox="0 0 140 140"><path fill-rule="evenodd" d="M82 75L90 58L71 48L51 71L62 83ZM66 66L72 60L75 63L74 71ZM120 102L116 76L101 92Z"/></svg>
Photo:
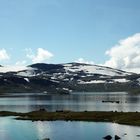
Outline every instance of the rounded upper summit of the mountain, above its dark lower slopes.
<svg viewBox="0 0 140 140"><path fill-rule="evenodd" d="M78 75L81 74L83 76L127 76L132 73L104 67L98 65L90 65L90 64L81 64L81 63L67 63L67 64L33 64L26 67L25 70L19 71L17 75L21 76L37 76L45 73L49 73L52 71L54 77L56 75Z"/></svg>

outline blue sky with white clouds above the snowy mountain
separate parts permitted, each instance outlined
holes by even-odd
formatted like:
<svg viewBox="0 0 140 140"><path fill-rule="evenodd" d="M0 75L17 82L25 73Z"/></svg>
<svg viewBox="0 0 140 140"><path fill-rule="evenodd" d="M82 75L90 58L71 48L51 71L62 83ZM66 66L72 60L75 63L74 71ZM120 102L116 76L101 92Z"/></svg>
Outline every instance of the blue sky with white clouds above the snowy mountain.
<svg viewBox="0 0 140 140"><path fill-rule="evenodd" d="M0 64L140 70L140 0L0 0Z"/></svg>

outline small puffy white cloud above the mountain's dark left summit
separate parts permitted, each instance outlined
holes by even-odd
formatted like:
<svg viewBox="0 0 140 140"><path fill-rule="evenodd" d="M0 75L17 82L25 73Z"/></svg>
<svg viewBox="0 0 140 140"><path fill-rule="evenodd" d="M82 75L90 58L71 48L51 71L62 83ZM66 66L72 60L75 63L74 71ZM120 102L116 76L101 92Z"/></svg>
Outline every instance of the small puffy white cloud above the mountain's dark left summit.
<svg viewBox="0 0 140 140"><path fill-rule="evenodd" d="M53 57L53 54L43 48L38 48L37 53L34 54L31 48L26 49L26 56L32 60L33 63L41 63Z"/></svg>

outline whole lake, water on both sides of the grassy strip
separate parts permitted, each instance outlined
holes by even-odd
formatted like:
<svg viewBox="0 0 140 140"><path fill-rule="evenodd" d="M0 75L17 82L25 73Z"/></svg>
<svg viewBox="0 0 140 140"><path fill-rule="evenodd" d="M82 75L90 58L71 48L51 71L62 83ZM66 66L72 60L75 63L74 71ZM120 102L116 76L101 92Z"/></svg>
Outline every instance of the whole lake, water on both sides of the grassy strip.
<svg viewBox="0 0 140 140"><path fill-rule="evenodd" d="M103 102L103 101L119 101ZM43 93L12 93L0 95L0 111L29 112L45 108L48 111L140 111L140 95L126 92L73 92L70 95ZM122 140L139 140L140 127L103 122L22 121L0 117L1 140L102 140L106 135L118 135Z"/></svg>

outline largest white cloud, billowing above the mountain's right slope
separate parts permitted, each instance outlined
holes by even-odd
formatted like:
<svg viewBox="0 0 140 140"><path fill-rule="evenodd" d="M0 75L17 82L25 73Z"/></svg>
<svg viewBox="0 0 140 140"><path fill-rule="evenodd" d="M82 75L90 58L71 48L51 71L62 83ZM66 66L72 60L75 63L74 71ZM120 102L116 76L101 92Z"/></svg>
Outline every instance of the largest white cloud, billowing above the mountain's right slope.
<svg viewBox="0 0 140 140"><path fill-rule="evenodd" d="M130 36L106 51L105 66L140 73L140 33Z"/></svg>

